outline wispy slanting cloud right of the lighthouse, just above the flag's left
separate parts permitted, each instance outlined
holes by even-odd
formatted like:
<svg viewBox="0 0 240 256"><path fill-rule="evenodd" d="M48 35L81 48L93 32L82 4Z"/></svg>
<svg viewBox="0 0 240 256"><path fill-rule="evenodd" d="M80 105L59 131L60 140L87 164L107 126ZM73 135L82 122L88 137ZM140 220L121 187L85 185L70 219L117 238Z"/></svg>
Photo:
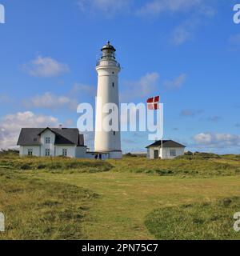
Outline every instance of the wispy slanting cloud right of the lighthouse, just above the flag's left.
<svg viewBox="0 0 240 256"><path fill-rule="evenodd" d="M138 81L126 82L127 90L121 94L121 102L130 102L134 99L151 97L156 90L159 74L148 73Z"/></svg>

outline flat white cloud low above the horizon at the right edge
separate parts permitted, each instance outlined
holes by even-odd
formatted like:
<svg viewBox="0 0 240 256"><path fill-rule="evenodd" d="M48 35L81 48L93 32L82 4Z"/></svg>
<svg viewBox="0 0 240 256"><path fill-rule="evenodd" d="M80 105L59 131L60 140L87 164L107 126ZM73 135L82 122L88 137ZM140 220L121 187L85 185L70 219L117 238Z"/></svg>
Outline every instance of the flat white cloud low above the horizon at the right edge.
<svg viewBox="0 0 240 256"><path fill-rule="evenodd" d="M204 148L230 148L240 146L240 135L202 133L194 136L194 142Z"/></svg>

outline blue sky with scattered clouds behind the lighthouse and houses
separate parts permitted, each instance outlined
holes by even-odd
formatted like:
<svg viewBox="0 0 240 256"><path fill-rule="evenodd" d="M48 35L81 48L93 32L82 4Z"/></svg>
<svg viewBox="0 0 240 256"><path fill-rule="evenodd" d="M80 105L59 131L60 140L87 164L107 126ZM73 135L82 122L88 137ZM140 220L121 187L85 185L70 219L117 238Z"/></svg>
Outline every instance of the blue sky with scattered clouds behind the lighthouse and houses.
<svg viewBox="0 0 240 256"><path fill-rule="evenodd" d="M160 94L165 138L239 153L240 24L230 0L0 0L0 147L22 126L76 126L94 103L100 48L117 49L122 101ZM148 133L122 133L142 151ZM93 134L86 134L93 146Z"/></svg>

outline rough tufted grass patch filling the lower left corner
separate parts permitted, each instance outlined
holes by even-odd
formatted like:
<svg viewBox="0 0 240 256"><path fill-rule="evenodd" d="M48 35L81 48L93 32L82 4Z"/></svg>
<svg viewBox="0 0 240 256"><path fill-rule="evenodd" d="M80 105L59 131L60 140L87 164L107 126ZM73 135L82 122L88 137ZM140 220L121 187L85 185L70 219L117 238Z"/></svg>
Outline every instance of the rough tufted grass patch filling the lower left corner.
<svg viewBox="0 0 240 256"><path fill-rule="evenodd" d="M0 170L1 239L84 239L82 222L98 194L61 182L46 182Z"/></svg>

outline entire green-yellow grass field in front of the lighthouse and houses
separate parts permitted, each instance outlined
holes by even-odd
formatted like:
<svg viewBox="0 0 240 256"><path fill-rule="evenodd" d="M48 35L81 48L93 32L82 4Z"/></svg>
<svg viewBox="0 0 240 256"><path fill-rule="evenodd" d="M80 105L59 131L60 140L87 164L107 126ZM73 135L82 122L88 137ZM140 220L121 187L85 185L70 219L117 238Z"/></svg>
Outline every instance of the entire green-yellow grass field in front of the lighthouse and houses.
<svg viewBox="0 0 240 256"><path fill-rule="evenodd" d="M0 154L0 239L240 239L238 155L90 161Z"/></svg>

